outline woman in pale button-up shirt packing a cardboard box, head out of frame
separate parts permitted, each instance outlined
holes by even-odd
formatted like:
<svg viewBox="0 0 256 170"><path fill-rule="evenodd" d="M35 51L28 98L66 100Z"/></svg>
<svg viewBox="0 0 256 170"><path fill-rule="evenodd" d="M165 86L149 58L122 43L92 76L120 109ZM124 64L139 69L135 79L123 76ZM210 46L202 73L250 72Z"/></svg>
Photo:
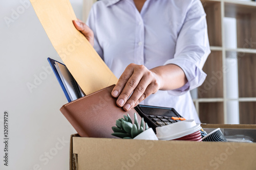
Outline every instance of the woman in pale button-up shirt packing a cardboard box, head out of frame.
<svg viewBox="0 0 256 170"><path fill-rule="evenodd" d="M199 0L102 0L87 25L73 22L120 77L112 91L119 107L173 107L200 122L189 93L205 80L210 53Z"/></svg>

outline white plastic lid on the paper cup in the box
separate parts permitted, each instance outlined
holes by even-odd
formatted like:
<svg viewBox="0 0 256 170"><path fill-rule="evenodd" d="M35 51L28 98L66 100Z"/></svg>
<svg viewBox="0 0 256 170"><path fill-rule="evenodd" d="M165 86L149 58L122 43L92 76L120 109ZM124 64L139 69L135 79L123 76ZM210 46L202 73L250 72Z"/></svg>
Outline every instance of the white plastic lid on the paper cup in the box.
<svg viewBox="0 0 256 170"><path fill-rule="evenodd" d="M157 127L157 137L159 140L173 140L201 130L200 124L195 120L183 120L174 124Z"/></svg>

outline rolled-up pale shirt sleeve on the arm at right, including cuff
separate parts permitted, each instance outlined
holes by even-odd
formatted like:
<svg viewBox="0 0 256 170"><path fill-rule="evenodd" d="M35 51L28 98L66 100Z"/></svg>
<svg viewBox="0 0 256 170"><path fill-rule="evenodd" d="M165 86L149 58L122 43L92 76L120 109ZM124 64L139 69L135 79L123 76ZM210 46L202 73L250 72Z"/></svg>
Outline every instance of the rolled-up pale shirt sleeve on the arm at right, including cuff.
<svg viewBox="0 0 256 170"><path fill-rule="evenodd" d="M169 90L168 93L182 95L202 85L206 78L202 68L209 54L206 14L201 2L196 0L187 10L177 38L174 58L164 63L178 65L184 71L188 82L181 88Z"/></svg>

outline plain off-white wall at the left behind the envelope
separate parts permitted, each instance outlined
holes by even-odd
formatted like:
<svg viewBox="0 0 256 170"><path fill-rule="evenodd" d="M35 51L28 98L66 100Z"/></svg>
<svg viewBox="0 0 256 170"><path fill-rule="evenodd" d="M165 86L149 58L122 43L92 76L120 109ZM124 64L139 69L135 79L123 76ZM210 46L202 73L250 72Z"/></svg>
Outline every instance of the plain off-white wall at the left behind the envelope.
<svg viewBox="0 0 256 170"><path fill-rule="evenodd" d="M71 3L82 18L82 0ZM0 169L69 169L69 140L75 130L59 111L67 100L47 57L61 60L32 6L25 6L19 0L0 0ZM17 10L20 14L14 15ZM34 88L29 90L28 83ZM3 162L4 111L9 112L9 166Z"/></svg>

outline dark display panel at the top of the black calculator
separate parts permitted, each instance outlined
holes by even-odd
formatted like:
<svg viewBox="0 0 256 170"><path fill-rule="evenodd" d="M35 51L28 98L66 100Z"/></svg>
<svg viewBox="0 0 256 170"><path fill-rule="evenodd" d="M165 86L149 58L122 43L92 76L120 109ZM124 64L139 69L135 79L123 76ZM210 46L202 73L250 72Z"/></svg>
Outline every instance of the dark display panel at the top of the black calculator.
<svg viewBox="0 0 256 170"><path fill-rule="evenodd" d="M140 106L140 109L144 114L150 115L162 115L162 116L177 116L172 109L164 109L164 108L154 108L154 107L146 107Z"/></svg>

